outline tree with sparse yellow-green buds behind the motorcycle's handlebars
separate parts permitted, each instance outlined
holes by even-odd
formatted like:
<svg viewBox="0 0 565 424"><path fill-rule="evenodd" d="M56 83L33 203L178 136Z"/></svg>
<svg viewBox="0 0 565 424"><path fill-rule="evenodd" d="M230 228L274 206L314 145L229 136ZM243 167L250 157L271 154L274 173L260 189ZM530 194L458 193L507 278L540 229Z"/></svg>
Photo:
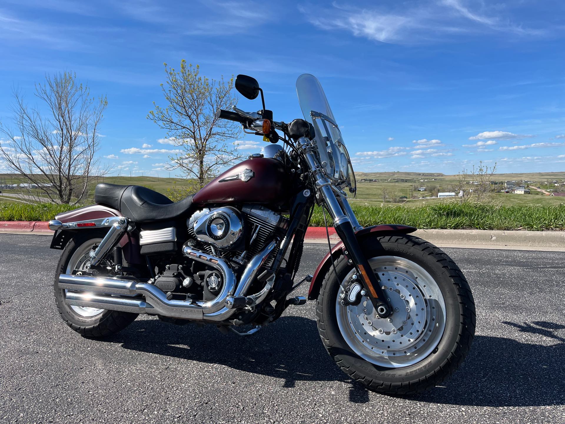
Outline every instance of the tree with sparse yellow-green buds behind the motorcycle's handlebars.
<svg viewBox="0 0 565 424"><path fill-rule="evenodd" d="M184 152L169 157L169 169L179 169L186 178L195 179L195 187L202 188L219 174L222 167L240 160L236 146L240 126L232 121L216 118L216 110L231 109L237 98L232 96L233 77L228 81L210 80L200 76L199 66L181 60L180 71L167 67L166 84L162 86L166 107L153 102L154 111L147 119L167 131L171 143Z"/></svg>

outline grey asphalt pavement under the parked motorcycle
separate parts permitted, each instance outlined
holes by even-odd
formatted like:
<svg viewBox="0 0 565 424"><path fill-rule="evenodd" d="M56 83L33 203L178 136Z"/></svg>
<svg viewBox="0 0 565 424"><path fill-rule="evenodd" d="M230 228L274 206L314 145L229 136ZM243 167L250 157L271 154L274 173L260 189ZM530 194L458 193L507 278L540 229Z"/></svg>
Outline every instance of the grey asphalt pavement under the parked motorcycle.
<svg viewBox="0 0 565 424"><path fill-rule="evenodd" d="M82 338L56 311L49 242L0 234L2 422L565 422L563 252L444 249L471 284L475 340L443 386L402 398L333 364L313 302L248 338L146 315L109 340ZM326 250L306 244L299 275Z"/></svg>

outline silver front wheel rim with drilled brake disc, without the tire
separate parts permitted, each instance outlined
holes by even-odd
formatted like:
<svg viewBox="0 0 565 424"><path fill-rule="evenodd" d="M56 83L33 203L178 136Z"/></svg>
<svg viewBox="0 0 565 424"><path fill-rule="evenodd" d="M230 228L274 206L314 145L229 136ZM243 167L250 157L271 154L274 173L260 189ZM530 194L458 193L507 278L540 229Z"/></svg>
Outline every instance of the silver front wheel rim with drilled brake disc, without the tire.
<svg viewBox="0 0 565 424"><path fill-rule="evenodd" d="M358 305L341 305L353 269L343 280L336 301L341 334L351 350L372 364L388 368L417 364L436 349L444 335L444 296L432 276L409 259L380 256L369 263L394 312L380 318L367 296Z"/></svg>

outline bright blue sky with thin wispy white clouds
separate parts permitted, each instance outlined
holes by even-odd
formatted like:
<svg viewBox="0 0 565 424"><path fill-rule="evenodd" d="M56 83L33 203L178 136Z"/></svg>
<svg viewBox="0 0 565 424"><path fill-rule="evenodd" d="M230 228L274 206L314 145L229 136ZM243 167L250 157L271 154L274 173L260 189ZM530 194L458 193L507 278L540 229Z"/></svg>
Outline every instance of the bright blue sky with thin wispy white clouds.
<svg viewBox="0 0 565 424"><path fill-rule="evenodd" d="M163 62L186 59L212 78L254 76L286 122L301 117L298 75L317 76L357 171L563 171L564 18L565 3L533 0L3 0L0 119L12 88L31 102L46 73L75 71L108 97L102 160L168 176L175 146L146 115L164 104Z"/></svg>

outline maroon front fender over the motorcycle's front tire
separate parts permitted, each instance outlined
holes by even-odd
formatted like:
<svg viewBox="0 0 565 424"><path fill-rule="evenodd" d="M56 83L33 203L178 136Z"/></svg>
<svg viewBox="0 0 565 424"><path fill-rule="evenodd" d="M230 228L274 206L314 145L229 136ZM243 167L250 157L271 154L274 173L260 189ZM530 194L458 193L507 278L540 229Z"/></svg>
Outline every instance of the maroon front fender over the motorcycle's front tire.
<svg viewBox="0 0 565 424"><path fill-rule="evenodd" d="M355 236L357 236L357 240L359 241L359 243L361 243L361 241L366 239L367 237L408 234L416 230L418 230L418 228L408 227L406 225L381 224L355 231ZM316 268L314 276L312 276L310 290L308 291L308 300L314 300L318 298L318 295L320 294L321 283L324 280L325 274L327 274L330 267L332 266L332 259L330 258L330 254L333 258L333 261L336 261L340 256L345 255L344 252L344 243L340 240L336 243L336 245L333 246L331 253L328 252L325 254L324 258L318 265L318 268Z"/></svg>

